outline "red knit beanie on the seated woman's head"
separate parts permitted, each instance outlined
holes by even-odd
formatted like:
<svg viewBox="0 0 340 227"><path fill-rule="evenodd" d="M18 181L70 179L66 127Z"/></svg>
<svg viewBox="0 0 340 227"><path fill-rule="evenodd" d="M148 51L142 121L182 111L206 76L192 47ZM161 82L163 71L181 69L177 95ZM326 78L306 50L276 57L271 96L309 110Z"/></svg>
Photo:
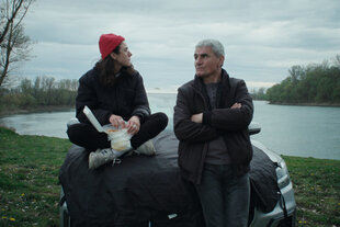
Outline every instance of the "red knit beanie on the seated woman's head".
<svg viewBox="0 0 340 227"><path fill-rule="evenodd" d="M125 38L115 34L102 34L99 38L99 50L102 55L102 59L105 59L115 47L117 47Z"/></svg>

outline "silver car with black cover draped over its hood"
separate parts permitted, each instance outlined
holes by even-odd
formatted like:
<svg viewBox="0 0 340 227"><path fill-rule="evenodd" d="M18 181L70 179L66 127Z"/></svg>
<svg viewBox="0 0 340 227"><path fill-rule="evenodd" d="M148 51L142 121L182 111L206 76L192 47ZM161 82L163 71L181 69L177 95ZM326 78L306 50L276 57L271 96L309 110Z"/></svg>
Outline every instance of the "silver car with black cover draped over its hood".
<svg viewBox="0 0 340 227"><path fill-rule="evenodd" d="M249 127L251 135L260 130L257 124ZM161 133L154 143L155 157L124 157L122 164L94 171L87 168L84 148L71 147L59 174L60 227L134 222L150 227L203 227L194 190L179 174L173 133ZM296 203L285 161L259 141L252 140L252 146L249 226L295 226Z"/></svg>

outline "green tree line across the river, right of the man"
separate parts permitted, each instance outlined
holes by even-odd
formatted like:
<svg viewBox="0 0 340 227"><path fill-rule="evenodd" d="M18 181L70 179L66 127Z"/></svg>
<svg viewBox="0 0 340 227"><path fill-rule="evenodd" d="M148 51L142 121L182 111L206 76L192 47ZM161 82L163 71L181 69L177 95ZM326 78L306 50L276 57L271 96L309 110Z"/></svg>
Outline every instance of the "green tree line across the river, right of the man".
<svg viewBox="0 0 340 227"><path fill-rule="evenodd" d="M333 64L293 66L281 83L252 93L254 99L284 104L340 104L340 55Z"/></svg>

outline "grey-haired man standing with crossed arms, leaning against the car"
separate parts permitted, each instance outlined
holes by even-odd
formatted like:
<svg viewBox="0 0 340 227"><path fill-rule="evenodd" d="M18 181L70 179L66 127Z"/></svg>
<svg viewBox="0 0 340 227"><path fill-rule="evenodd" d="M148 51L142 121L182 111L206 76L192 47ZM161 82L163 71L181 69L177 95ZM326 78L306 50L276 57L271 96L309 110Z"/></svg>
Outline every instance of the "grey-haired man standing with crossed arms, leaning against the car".
<svg viewBox="0 0 340 227"><path fill-rule="evenodd" d="M193 80L178 89L173 127L181 175L195 185L206 227L247 226L253 104L243 80L222 68L224 47L195 47Z"/></svg>

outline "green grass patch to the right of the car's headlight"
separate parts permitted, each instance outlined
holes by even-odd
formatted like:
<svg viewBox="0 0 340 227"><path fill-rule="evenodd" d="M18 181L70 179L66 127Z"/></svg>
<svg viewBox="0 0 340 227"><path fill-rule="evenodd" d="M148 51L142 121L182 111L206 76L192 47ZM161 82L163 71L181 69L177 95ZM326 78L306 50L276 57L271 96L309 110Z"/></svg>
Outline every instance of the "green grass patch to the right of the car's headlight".
<svg viewBox="0 0 340 227"><path fill-rule="evenodd" d="M340 161L283 156L293 181L297 226L340 226Z"/></svg>

